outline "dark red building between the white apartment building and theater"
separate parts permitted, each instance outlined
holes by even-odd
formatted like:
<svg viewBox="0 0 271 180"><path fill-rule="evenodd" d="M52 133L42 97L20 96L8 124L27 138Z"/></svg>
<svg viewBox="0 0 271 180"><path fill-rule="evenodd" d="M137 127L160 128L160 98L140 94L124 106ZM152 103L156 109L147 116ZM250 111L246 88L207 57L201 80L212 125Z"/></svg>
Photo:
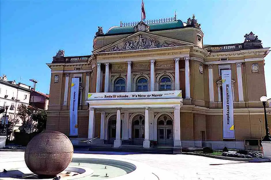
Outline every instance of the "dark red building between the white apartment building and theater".
<svg viewBox="0 0 271 180"><path fill-rule="evenodd" d="M49 94L44 94L42 92L34 91L34 88L31 88L32 92L30 94L30 105L38 109L47 110L49 105Z"/></svg>

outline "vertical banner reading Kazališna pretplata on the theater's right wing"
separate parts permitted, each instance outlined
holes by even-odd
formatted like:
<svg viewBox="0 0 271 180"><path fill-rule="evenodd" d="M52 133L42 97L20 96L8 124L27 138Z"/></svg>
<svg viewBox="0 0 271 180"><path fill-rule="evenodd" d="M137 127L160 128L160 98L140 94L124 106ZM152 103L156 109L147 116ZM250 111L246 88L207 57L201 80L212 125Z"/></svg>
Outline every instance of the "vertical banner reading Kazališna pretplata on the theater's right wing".
<svg viewBox="0 0 271 180"><path fill-rule="evenodd" d="M232 98L232 70L222 70L223 89L223 139L235 139L233 98Z"/></svg>

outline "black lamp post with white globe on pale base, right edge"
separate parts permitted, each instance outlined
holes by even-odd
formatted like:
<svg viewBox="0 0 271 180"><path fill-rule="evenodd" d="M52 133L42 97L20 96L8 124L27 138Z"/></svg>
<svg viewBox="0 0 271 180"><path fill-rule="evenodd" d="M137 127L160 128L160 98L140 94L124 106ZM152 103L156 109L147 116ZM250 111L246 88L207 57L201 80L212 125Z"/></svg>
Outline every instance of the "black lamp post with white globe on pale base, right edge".
<svg viewBox="0 0 271 180"><path fill-rule="evenodd" d="M264 136L264 138L262 139L262 146L263 146L263 156L264 158L269 158L271 159L271 136L270 136L270 131L268 128L268 121L267 121L267 114L266 114L266 102L268 102L266 96L261 96L260 101L263 103L264 106L264 121L265 121L265 132L266 135Z"/></svg>

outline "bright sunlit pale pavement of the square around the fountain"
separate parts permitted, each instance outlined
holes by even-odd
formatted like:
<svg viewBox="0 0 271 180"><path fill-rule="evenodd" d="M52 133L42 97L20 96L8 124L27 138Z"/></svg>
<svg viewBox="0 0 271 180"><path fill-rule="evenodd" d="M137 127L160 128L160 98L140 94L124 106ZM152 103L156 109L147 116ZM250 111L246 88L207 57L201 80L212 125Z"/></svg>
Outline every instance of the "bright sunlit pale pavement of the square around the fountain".
<svg viewBox="0 0 271 180"><path fill-rule="evenodd" d="M118 158L135 160L155 169L161 169L180 180L270 180L271 162L250 163L214 159L185 154L129 154L111 152L109 154L90 154L93 152L76 152L75 158ZM95 152L99 153L99 152ZM24 152L0 152L0 171L3 169L25 166ZM170 180L170 179L167 179Z"/></svg>

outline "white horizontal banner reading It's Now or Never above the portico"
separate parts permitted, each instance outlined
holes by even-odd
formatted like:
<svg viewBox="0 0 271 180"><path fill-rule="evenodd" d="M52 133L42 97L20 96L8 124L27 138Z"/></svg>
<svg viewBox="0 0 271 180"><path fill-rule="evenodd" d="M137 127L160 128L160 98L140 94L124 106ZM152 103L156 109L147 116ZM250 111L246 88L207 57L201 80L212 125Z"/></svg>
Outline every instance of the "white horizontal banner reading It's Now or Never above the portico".
<svg viewBox="0 0 271 180"><path fill-rule="evenodd" d="M112 99L165 99L182 98L182 91L148 91L148 92L97 92L88 93L88 100Z"/></svg>

